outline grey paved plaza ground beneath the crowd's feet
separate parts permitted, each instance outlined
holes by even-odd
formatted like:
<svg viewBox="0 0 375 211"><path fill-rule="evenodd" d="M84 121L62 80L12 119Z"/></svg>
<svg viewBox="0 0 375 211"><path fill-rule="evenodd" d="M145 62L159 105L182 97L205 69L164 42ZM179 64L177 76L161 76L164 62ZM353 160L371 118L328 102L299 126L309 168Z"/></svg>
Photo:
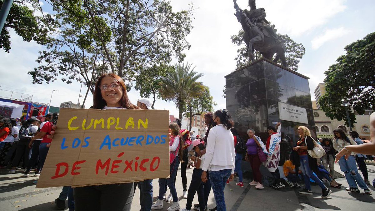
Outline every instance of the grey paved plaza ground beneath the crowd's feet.
<svg viewBox="0 0 375 211"><path fill-rule="evenodd" d="M339 171L339 165L335 164L336 171ZM17 170L16 174L8 174L7 169L0 170L0 210L1 211L48 211L55 210L54 200L58 197L61 187L55 188L35 188L33 180L35 177L23 178L22 170ZM190 179L193 169L187 169L187 185L190 184ZM372 181L375 177L375 166L368 165L369 179ZM180 173L180 171L178 171ZM32 175L30 173L30 175ZM345 178L336 179L342 183L342 188L331 188L332 194L329 198L323 199L320 197L321 189L317 185L312 186L314 195L306 196L298 193L297 188L285 187L281 190L274 190L265 187L264 190L256 190L254 186L248 185L248 180L245 179L245 187L238 187L235 185L238 178L235 178L229 185L225 187L225 202L226 208L229 211L249 211L249 210L374 210L375 207L375 189L370 187L374 195L366 195L363 193L348 193L345 188L348 183ZM153 181L154 199L157 198L157 191L159 185L157 179ZM186 199L182 198L182 184L181 177L177 175L176 189L181 203L181 208L185 207ZM138 211L139 206L139 190L135 191L134 200L132 203L132 211ZM193 203L198 203L197 197L194 198ZM164 202L166 210L168 203ZM208 199L208 208L215 206L213 193L211 192ZM68 210L68 205L66 206Z"/></svg>

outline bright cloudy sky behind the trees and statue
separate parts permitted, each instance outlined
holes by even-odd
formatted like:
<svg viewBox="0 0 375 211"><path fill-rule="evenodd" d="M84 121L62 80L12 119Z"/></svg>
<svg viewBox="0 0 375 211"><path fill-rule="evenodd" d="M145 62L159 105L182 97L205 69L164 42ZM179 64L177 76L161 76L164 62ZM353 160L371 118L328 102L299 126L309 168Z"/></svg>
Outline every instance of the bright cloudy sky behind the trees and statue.
<svg viewBox="0 0 375 211"><path fill-rule="evenodd" d="M49 5L43 0L41 2L43 8L48 9ZM204 74L201 81L210 87L211 95L217 102L215 109L223 109L226 105L222 97L224 76L236 67L237 46L232 44L230 37L239 31L241 25L233 15L233 0L171 0L175 11L187 9L190 2L197 9L192 23L194 29L187 37L191 48L185 52L185 62L193 63L195 71ZM242 9L247 8L247 2L237 1ZM306 54L299 63L298 72L311 78L312 94L317 84L323 82L324 71L345 53L344 47L375 29L375 2L372 0L257 0L257 7L266 9L267 20L276 25L278 33L288 34L305 46ZM14 32L10 32L10 36L10 53L0 50L0 97L9 98L11 92L4 90L10 90L33 95L35 102L48 103L52 90L56 89L52 106L60 106L66 101L77 103L81 86L78 82L69 85L62 81L32 84L27 71L37 66L35 59L43 46L24 42ZM82 92L81 95L84 95L86 89ZM13 93L14 96L17 93ZM129 97L136 103L139 93L132 90ZM92 100L89 93L85 103L87 107L93 104ZM178 115L172 102L157 100L155 107Z"/></svg>

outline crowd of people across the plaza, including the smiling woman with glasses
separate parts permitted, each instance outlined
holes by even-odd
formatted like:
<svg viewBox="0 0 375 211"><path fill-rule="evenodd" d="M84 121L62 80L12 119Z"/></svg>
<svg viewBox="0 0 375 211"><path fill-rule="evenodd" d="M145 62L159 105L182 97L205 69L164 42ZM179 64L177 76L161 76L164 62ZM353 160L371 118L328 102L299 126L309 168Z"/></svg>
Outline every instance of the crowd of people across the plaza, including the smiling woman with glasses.
<svg viewBox="0 0 375 211"><path fill-rule="evenodd" d="M98 78L92 108L153 109L150 101L144 98L139 99L136 105L132 104L127 96L124 81L115 74L104 74ZM10 165L9 173L16 173L17 167L23 167L24 177L30 176L31 169L35 169L34 176L42 173L49 145L55 131L58 131L55 126L58 113L47 114L44 117L44 122L34 117L28 120L1 118L0 162L2 167ZM374 119L372 127L375 128L375 115L373 114L371 118ZM63 187L60 196L55 200L56 208L65 209L65 200L68 198L70 211L128 211L138 187L142 211L162 209L165 205L164 200L168 203L172 202L167 208L168 211L179 209L190 211L192 208L202 211L208 209L208 196L212 188L216 207L211 208L210 211L225 211L225 185L237 175L239 182L236 185L245 186L241 168L243 160L248 161L252 168L254 180L249 185L254 185L258 190L264 189L262 165L265 165L272 175L273 183L270 187L275 189L285 187L279 172L279 164L282 163L282 173L290 187L301 187L299 182L303 181L304 188L299 190L299 193L312 195L311 181L314 181L322 189L321 197L329 197L332 191L323 181L329 182L330 187L341 187L341 184L334 179L334 162L339 161L340 169L349 184L347 191L359 192L359 186L366 194L371 194L367 186L369 178L365 158L366 154L374 154L374 143L369 143L371 146L363 144L356 131L351 131L351 137L347 137L344 131L336 129L333 131L333 140L322 139L316 142L308 128L299 126L297 129L299 140L296 140L290 152L285 153L280 149L280 144L283 141L289 144L290 141L285 141L287 138L281 131L280 122L267 128L269 137L265 142L255 135L261 131L253 128L247 130L247 141L245 137L240 136L226 109L205 113L204 122L208 129L202 137L194 137L192 131L181 129L179 119L169 124L170 177L158 180L159 192L155 202L153 202L153 179L147 179L135 183ZM318 158L311 154L311 151L318 147L317 145L321 145L324 149L324 155ZM367 146L361 147L361 145ZM20 166L21 160L22 166ZM356 162L364 179L358 173ZM181 166L183 198L186 199L184 208L181 208L175 187L179 166ZM187 167L193 167L189 186L186 176ZM34 183L37 183L37 180ZM167 187L170 194L166 197ZM198 197L198 204L192 204L195 194Z"/></svg>

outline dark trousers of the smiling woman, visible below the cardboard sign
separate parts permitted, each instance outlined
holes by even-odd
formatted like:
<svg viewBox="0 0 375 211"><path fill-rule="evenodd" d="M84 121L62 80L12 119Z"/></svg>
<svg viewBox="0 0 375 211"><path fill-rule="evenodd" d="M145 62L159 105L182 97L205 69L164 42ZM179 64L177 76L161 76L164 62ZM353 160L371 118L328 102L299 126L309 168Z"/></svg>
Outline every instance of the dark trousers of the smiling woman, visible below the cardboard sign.
<svg viewBox="0 0 375 211"><path fill-rule="evenodd" d="M134 183L74 188L76 211L130 211Z"/></svg>

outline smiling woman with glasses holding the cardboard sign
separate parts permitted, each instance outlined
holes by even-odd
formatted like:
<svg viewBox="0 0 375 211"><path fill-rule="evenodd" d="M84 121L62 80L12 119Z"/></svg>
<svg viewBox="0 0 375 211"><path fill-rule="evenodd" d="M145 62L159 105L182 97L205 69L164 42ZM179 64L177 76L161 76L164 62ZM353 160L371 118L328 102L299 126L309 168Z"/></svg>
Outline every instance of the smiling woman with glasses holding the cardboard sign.
<svg viewBox="0 0 375 211"><path fill-rule="evenodd" d="M95 84L93 109L140 109L133 105L121 77L103 74ZM52 135L54 132L51 133ZM134 183L93 185L74 188L75 210L129 211Z"/></svg>

